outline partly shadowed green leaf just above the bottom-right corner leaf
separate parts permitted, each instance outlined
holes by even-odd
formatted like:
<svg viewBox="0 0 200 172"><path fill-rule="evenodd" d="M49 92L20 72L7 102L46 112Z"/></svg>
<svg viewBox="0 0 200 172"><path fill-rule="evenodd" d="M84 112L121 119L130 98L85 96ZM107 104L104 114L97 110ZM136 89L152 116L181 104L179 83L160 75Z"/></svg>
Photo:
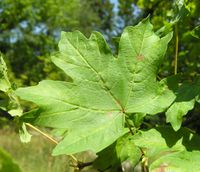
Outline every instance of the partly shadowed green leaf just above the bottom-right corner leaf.
<svg viewBox="0 0 200 172"><path fill-rule="evenodd" d="M185 128L175 132L171 127L157 127L137 133L133 136L133 141L143 150L150 166L154 161L165 156L176 156L174 155L176 153L200 150L200 136L192 134ZM181 166L179 168L184 169Z"/></svg>

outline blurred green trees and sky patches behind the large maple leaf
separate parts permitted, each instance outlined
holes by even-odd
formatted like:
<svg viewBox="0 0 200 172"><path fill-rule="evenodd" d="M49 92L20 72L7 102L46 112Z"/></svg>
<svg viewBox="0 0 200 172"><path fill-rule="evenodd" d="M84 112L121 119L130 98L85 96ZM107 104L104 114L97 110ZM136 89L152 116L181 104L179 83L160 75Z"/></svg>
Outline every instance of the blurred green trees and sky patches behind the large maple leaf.
<svg viewBox="0 0 200 172"><path fill-rule="evenodd" d="M66 80L69 78L49 58L57 51L62 30L80 30L86 36L92 30L100 31L115 50L111 38L116 36L113 42L117 47L117 37L126 26L150 15L157 34L174 31L158 80L176 73L177 66L180 80L190 83L200 73L199 8L199 0L2 0L0 51L18 86L34 85L45 78ZM178 57L177 65L175 57ZM0 95L0 101L1 98ZM195 104L182 125L200 133L199 112L200 107ZM4 114L0 112L0 115ZM3 123L7 122L2 119ZM147 116L145 122L142 128L151 128L165 124L166 119L160 114Z"/></svg>

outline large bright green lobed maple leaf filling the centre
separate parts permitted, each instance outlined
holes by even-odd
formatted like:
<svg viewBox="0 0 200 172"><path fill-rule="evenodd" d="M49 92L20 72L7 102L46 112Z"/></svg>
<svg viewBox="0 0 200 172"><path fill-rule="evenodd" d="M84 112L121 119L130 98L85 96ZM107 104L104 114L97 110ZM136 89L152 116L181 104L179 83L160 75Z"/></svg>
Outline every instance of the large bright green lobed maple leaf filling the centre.
<svg viewBox="0 0 200 172"><path fill-rule="evenodd" d="M52 61L73 82L42 81L16 93L39 106L29 122L67 130L54 155L99 152L124 134L125 115L156 114L175 99L156 75L172 34L160 38L148 19L127 27L114 57L102 35L62 32Z"/></svg>

